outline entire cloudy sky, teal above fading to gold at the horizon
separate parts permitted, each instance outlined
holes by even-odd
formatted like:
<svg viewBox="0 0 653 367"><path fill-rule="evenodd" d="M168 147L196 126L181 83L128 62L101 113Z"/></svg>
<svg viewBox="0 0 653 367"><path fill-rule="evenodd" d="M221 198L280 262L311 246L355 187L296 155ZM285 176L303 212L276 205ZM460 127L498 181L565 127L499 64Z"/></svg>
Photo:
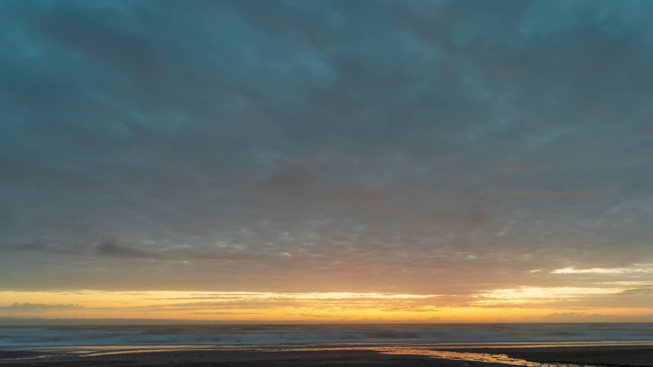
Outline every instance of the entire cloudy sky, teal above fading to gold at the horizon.
<svg viewBox="0 0 653 367"><path fill-rule="evenodd" d="M653 321L649 0L0 2L0 318Z"/></svg>

